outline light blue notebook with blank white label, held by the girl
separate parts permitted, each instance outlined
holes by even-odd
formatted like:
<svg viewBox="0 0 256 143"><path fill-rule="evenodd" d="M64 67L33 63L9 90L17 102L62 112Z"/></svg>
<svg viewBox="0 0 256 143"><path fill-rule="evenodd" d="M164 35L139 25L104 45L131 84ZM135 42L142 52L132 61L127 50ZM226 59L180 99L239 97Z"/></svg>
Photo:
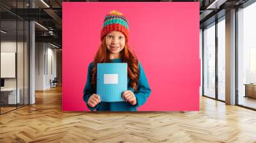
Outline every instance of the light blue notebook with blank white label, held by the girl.
<svg viewBox="0 0 256 143"><path fill-rule="evenodd" d="M124 102L127 90L127 63L97 64L97 94L101 102Z"/></svg>

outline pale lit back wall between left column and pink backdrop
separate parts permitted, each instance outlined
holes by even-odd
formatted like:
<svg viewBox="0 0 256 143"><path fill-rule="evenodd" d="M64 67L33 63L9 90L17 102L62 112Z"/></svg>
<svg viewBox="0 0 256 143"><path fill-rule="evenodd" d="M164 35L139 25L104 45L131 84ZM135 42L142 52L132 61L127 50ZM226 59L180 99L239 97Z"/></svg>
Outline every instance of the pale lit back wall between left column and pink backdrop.
<svg viewBox="0 0 256 143"><path fill-rule="evenodd" d="M49 43L35 43L35 90L49 89L56 77L56 49Z"/></svg>

